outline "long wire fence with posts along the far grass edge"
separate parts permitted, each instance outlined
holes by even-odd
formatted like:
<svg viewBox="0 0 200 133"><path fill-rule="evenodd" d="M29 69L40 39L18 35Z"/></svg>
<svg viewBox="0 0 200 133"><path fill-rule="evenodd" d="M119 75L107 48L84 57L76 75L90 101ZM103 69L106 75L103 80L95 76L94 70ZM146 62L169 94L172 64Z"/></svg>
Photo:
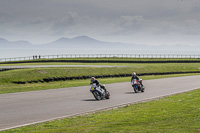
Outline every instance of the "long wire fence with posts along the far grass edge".
<svg viewBox="0 0 200 133"><path fill-rule="evenodd" d="M58 59L58 58L194 58L200 59L200 55L179 55L179 54L61 54L61 55L34 55L27 57L0 58L0 62L25 61L37 59Z"/></svg>

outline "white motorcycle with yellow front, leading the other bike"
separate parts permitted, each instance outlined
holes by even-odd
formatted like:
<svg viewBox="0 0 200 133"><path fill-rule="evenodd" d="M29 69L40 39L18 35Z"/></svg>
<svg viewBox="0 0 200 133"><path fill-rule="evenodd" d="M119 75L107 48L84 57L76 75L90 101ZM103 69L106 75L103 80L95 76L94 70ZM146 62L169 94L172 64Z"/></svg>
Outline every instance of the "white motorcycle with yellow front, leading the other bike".
<svg viewBox="0 0 200 133"><path fill-rule="evenodd" d="M105 85L103 85L105 87ZM91 84L90 92L94 95L96 100L101 99L110 99L110 93L108 91L105 91L100 86L97 86L95 83Z"/></svg>

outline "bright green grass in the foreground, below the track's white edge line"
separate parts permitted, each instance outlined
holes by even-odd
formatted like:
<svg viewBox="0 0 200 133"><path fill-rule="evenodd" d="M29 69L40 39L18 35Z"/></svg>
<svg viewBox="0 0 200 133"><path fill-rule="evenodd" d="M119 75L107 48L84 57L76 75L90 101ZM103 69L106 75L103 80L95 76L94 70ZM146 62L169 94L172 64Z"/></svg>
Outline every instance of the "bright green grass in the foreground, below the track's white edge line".
<svg viewBox="0 0 200 133"><path fill-rule="evenodd" d="M200 89L145 103L3 131L3 133L197 133Z"/></svg>

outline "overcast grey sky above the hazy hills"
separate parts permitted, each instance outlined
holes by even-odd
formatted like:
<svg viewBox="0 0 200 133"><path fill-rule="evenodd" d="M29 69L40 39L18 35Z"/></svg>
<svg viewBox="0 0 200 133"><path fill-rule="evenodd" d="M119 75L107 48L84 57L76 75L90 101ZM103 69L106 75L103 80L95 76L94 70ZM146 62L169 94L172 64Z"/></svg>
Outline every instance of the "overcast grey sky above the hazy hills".
<svg viewBox="0 0 200 133"><path fill-rule="evenodd" d="M200 0L0 0L0 38L200 45Z"/></svg>

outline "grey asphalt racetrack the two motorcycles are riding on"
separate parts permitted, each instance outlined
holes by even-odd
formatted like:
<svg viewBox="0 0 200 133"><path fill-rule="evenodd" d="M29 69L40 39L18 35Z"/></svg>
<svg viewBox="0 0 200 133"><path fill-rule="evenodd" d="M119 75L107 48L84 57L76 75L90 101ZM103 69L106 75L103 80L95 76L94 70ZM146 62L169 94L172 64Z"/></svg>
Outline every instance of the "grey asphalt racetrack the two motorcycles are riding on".
<svg viewBox="0 0 200 133"><path fill-rule="evenodd" d="M199 81L200 75L145 80L145 92L137 94L130 82L107 84L111 99L101 101L90 86L1 94L0 131L198 89Z"/></svg>

